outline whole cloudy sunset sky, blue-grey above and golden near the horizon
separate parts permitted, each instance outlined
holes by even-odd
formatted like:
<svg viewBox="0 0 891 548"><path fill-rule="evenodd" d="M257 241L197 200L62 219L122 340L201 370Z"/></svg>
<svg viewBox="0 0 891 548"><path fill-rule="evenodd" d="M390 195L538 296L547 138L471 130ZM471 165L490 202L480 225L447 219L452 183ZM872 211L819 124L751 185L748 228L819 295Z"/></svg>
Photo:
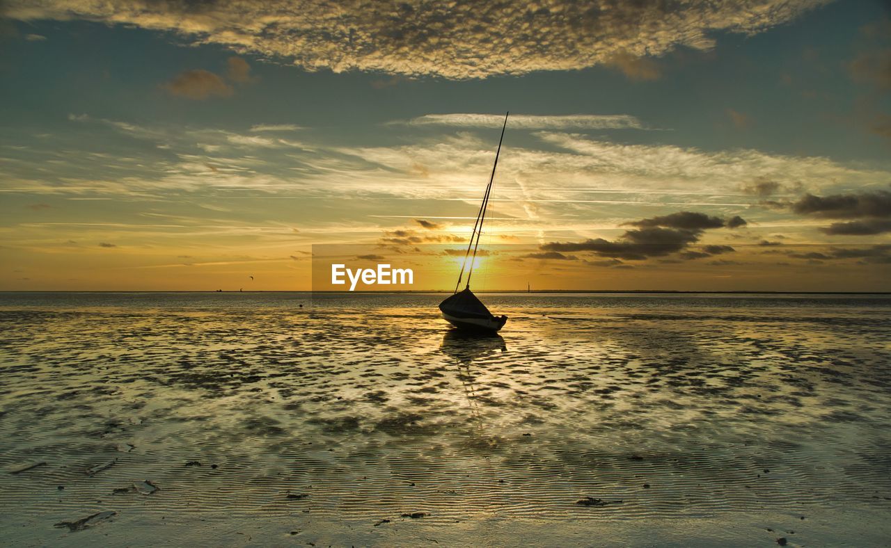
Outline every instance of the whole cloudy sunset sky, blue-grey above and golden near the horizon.
<svg viewBox="0 0 891 548"><path fill-rule="evenodd" d="M891 290L888 4L672 5L6 0L0 290L460 248L507 110L481 289Z"/></svg>

